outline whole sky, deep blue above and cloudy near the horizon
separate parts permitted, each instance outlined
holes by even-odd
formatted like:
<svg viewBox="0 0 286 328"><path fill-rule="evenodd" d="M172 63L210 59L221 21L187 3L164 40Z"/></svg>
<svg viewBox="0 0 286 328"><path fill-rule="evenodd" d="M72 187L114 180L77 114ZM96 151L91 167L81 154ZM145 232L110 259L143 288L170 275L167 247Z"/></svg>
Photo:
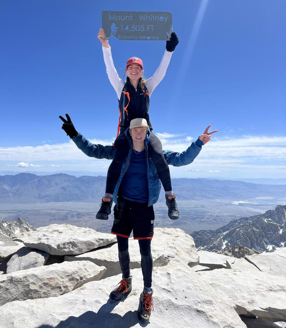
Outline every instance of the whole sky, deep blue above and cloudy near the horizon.
<svg viewBox="0 0 286 328"><path fill-rule="evenodd" d="M144 8L142 8L144 7ZM180 43L150 102L164 148L183 151L207 125L219 133L173 177L285 177L286 2L193 0L0 2L0 171L96 171L108 161L81 154L61 130L110 144L118 124L97 33L102 10L171 11ZM123 78L126 60L158 67L164 41L110 39ZM21 163L21 164L20 164Z"/></svg>

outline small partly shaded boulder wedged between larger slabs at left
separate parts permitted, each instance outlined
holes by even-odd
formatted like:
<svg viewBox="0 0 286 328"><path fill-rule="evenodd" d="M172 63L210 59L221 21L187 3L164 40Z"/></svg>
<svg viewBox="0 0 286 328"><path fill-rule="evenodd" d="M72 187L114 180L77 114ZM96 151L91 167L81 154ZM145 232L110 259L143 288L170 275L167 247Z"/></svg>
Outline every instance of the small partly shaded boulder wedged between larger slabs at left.
<svg viewBox="0 0 286 328"><path fill-rule="evenodd" d="M47 262L49 255L30 247L22 247L7 262L7 273L42 266Z"/></svg>

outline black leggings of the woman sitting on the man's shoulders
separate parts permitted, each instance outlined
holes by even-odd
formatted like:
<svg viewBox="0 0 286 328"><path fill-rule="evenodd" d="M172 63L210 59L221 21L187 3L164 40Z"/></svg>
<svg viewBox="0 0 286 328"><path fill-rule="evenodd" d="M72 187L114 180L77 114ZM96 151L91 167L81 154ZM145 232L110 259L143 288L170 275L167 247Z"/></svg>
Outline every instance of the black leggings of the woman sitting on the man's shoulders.
<svg viewBox="0 0 286 328"><path fill-rule="evenodd" d="M129 142L125 137L125 134L120 133L114 141L114 158L107 171L105 189L106 194L113 195L115 186L120 177L122 165L126 156L128 155L129 149ZM162 144L159 138L152 132L150 134L150 140L148 144L148 153L156 165L157 174L162 182L165 192L171 191L171 176L168 164L166 163L163 154Z"/></svg>

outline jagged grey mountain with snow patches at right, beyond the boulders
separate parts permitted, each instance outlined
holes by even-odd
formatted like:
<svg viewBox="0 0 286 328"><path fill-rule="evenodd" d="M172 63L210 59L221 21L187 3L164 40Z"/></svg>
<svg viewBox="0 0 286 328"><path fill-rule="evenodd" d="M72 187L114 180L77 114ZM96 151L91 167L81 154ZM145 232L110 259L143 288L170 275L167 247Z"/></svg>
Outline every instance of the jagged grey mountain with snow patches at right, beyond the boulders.
<svg viewBox="0 0 286 328"><path fill-rule="evenodd" d="M286 247L286 205L264 214L242 217L216 230L201 230L190 234L196 248L222 252L226 247L243 246L258 252L272 252Z"/></svg>

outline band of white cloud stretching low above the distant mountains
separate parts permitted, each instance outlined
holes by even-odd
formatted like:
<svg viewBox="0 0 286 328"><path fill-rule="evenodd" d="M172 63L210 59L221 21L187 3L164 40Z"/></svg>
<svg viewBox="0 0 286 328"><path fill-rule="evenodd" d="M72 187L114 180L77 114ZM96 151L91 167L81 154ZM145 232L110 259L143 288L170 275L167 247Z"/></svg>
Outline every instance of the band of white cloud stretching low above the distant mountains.
<svg viewBox="0 0 286 328"><path fill-rule="evenodd" d="M186 134L157 133L163 144L163 149L183 152L194 141L193 137ZM92 139L92 143L111 145L113 138L108 140ZM106 172L109 160L96 160L83 154L72 140L63 144L0 147L2 164L13 164L18 167L67 167L76 170L90 170ZM53 164L51 163L53 161ZM30 164L33 163L33 164ZM244 135L240 138L217 138L203 146L201 153L193 163L187 167L172 168L173 172L189 172L192 176L201 172L214 176L226 174L237 176L241 173L244 177L260 173L260 176L279 177L286 173L286 137L281 136L251 136ZM253 175L254 174L254 175ZM182 174L181 174L182 175Z"/></svg>

